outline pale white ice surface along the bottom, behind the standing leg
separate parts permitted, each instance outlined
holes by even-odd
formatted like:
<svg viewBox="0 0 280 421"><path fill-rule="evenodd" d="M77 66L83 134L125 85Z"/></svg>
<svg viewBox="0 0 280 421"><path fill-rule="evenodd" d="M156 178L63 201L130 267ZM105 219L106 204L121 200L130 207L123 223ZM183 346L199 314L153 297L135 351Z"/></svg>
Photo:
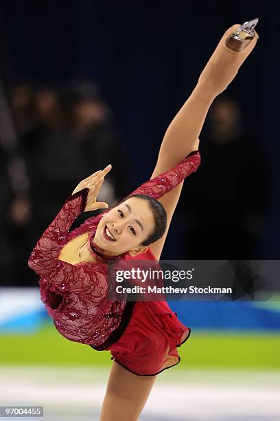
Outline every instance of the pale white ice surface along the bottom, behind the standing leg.
<svg viewBox="0 0 280 421"><path fill-rule="evenodd" d="M99 420L109 371L1 367L1 406L43 406L44 421ZM280 371L174 367L157 376L139 420L279 421L279 396Z"/></svg>

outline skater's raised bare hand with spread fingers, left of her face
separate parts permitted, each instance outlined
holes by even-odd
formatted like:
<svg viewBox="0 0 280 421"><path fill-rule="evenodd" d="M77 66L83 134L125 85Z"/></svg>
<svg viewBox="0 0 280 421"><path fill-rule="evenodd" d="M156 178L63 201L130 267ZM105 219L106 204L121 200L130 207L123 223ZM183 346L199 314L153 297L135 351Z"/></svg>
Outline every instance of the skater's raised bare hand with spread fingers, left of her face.
<svg viewBox="0 0 280 421"><path fill-rule="evenodd" d="M73 191L72 194L77 193L83 188L89 187L89 193L86 199L86 207L84 208L84 212L88 212L89 210L108 208L108 204L105 202L96 202L96 198L100 191L100 187L104 182L104 177L108 174L111 168L112 165L109 164L106 166L106 168L104 168L103 171L100 170L91 174L89 177L82 180Z"/></svg>

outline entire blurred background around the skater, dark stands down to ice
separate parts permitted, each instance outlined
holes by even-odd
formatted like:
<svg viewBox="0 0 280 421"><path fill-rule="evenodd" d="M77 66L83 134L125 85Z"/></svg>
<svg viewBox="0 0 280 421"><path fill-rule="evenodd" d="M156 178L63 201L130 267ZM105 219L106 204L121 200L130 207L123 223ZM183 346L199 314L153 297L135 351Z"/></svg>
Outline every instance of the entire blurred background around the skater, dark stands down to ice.
<svg viewBox="0 0 280 421"><path fill-rule="evenodd" d="M257 47L211 106L162 258L279 259L278 12L261 2L1 2L0 404L98 419L110 354L58 334L27 259L84 177L113 164L100 195L109 203L150 178L222 34L255 17ZM279 420L279 301L170 307L192 334L141 420Z"/></svg>

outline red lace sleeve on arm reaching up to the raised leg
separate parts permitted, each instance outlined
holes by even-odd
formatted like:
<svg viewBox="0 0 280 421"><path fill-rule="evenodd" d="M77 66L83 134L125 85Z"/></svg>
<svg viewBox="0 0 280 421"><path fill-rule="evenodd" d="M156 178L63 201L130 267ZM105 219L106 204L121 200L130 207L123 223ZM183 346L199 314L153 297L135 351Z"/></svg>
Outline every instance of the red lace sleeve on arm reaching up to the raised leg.
<svg viewBox="0 0 280 421"><path fill-rule="evenodd" d="M178 186L180 182L183 182L188 175L194 173L198 169L198 166L200 166L200 161L200 151L193 151L180 164L152 178L152 180L141 184L130 195L139 193L159 199L159 197L162 197Z"/></svg>

